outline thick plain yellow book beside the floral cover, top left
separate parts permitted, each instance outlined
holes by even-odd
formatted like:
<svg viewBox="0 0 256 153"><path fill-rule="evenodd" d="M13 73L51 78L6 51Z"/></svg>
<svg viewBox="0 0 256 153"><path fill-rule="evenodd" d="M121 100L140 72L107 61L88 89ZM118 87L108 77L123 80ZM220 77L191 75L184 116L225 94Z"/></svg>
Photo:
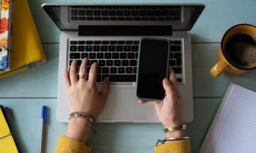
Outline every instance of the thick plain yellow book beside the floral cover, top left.
<svg viewBox="0 0 256 153"><path fill-rule="evenodd" d="M0 72L0 79L46 61L28 1L15 0L12 8L10 71Z"/></svg>

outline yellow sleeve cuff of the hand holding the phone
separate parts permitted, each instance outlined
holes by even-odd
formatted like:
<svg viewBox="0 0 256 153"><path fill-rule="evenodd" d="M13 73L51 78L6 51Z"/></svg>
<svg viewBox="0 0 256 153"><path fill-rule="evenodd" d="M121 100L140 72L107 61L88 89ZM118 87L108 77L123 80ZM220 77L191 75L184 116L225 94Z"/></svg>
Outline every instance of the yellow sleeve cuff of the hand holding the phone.
<svg viewBox="0 0 256 153"><path fill-rule="evenodd" d="M162 144L154 148L155 153L189 153L190 141L171 141L168 144Z"/></svg>

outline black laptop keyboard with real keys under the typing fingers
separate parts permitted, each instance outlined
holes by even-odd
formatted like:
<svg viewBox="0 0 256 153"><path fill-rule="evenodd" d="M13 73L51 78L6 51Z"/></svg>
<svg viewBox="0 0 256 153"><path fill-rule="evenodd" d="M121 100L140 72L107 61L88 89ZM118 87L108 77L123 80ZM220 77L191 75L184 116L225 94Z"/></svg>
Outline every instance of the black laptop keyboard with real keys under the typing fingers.
<svg viewBox="0 0 256 153"><path fill-rule="evenodd" d="M98 63L97 82L110 76L110 82L135 82L138 64L139 41L69 41L69 68L77 60L78 71L83 58L90 66ZM170 66L176 74L182 73L181 41L170 41ZM182 82L181 78L177 78Z"/></svg>

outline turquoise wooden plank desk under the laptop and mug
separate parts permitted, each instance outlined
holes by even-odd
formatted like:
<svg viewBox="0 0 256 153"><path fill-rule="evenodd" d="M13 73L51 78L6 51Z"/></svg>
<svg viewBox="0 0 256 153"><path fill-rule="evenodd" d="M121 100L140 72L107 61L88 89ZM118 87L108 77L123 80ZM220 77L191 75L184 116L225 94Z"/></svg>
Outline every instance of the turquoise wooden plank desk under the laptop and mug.
<svg viewBox="0 0 256 153"><path fill-rule="evenodd" d="M21 152L39 152L41 106L49 107L46 129L46 152L54 152L58 137L64 135L66 124L56 120L56 93L59 61L60 31L40 8L51 2L123 2L121 0L29 0L31 11L45 49L48 62L29 71L0 80L0 104L9 106L14 117L11 127ZM125 2L136 2L127 0ZM140 0L140 2L157 2ZM256 90L256 71L244 76L227 74L214 79L209 74L216 62L216 50L227 28L238 23L256 25L255 0L162 0L161 2L195 2L206 4L206 9L190 31L192 34L193 87L195 119L189 123L187 136L192 138L192 152L216 109L227 82L239 83ZM24 23L26 24L26 23ZM160 124L98 124L97 135L91 133L88 144L93 152L148 153L154 152L157 138L162 138Z"/></svg>

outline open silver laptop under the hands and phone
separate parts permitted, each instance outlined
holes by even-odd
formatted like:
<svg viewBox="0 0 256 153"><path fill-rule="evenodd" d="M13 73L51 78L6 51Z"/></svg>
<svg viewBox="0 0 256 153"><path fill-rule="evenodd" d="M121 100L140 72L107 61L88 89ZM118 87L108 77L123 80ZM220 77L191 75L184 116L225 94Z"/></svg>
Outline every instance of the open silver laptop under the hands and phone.
<svg viewBox="0 0 256 153"><path fill-rule="evenodd" d="M98 63L97 87L110 76L110 93L97 122L159 122L154 103L139 104L135 95L140 39L170 41L170 66L176 72L184 122L192 122L192 29L203 4L42 4L62 31L59 47L57 119L68 122L64 70L72 60ZM89 71L88 67L88 70Z"/></svg>

